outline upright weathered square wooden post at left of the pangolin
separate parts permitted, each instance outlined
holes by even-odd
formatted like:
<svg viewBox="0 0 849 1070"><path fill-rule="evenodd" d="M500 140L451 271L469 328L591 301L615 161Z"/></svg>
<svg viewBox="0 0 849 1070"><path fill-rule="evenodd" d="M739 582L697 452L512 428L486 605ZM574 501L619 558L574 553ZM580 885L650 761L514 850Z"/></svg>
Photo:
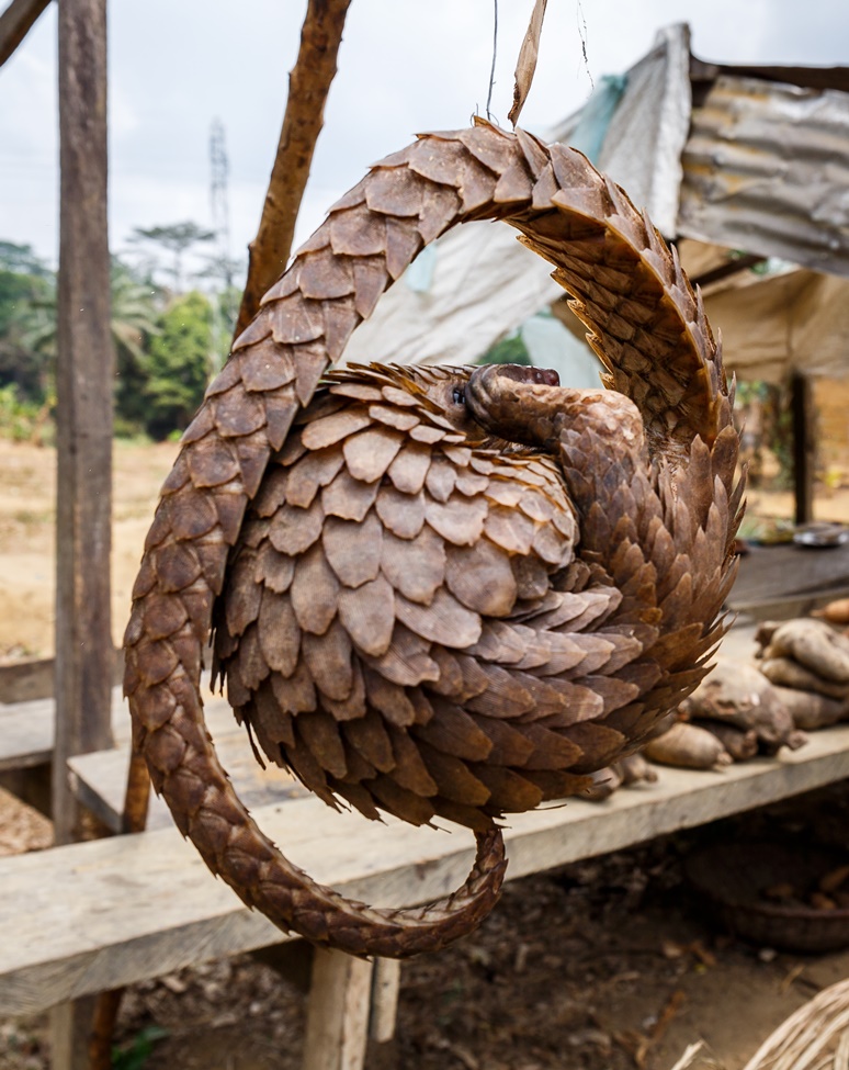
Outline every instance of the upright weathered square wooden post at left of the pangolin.
<svg viewBox="0 0 849 1070"><path fill-rule="evenodd" d="M111 746L112 384L106 227L106 0L59 0L56 386L56 842L79 830L67 759ZM92 1001L56 1007L53 1070L88 1065Z"/></svg>

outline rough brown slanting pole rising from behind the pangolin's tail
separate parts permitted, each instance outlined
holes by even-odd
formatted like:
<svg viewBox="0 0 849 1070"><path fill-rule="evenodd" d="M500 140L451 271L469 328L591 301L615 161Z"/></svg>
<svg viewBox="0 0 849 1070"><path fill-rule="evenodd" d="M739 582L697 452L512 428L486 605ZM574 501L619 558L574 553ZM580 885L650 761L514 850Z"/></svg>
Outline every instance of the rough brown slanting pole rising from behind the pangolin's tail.
<svg viewBox="0 0 849 1070"><path fill-rule="evenodd" d="M278 280L292 251L295 221L309 178L325 102L336 75L344 19L351 0L309 0L301 49L288 76L288 100L278 155L257 237L250 244L248 281L236 335L248 326L265 291Z"/></svg>

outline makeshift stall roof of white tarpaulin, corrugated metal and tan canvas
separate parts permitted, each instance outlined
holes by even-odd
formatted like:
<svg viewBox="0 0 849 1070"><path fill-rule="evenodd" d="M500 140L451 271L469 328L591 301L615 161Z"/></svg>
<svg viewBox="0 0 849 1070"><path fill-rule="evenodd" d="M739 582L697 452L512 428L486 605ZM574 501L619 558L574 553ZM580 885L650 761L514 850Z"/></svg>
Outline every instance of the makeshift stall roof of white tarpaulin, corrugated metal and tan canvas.
<svg viewBox="0 0 849 1070"><path fill-rule="evenodd" d="M661 31L648 55L602 79L548 139L587 153L667 237L849 275L849 72L817 81L784 68L796 80L789 86L781 68L723 72L692 59L689 46L686 25ZM811 88L806 79L830 82ZM550 271L509 226L466 224L389 290L346 358L468 363L563 295ZM768 379L789 367L846 374L849 283L815 271L743 281L745 295L735 282L709 299L728 367Z"/></svg>

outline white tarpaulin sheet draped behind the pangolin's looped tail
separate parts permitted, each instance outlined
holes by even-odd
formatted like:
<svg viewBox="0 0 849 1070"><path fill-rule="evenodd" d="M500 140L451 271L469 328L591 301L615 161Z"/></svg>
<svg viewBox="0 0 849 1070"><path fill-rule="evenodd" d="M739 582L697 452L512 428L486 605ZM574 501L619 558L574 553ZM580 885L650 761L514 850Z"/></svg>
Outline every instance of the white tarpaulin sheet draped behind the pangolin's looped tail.
<svg viewBox="0 0 849 1070"><path fill-rule="evenodd" d="M604 120L609 127L585 124L571 138L581 150L591 151L589 142L597 142L599 165L627 183L636 203L648 204L668 234L675 233L690 115L689 40L682 25L661 31L652 52L622 79L624 89ZM576 134L580 116L546 139L568 143L565 135ZM551 264L519 245L503 223L467 223L433 248L428 269L419 273L414 264L355 331L346 360L469 363L563 296L551 279ZM429 278L420 281L420 274Z"/></svg>

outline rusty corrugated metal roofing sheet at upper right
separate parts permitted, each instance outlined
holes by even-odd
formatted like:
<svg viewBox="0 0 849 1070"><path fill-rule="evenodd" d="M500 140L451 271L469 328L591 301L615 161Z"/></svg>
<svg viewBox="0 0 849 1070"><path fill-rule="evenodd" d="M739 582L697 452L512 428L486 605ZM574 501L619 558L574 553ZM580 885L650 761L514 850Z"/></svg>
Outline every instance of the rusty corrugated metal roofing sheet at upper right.
<svg viewBox="0 0 849 1070"><path fill-rule="evenodd" d="M680 234L849 275L849 93L721 75L682 162Z"/></svg>

